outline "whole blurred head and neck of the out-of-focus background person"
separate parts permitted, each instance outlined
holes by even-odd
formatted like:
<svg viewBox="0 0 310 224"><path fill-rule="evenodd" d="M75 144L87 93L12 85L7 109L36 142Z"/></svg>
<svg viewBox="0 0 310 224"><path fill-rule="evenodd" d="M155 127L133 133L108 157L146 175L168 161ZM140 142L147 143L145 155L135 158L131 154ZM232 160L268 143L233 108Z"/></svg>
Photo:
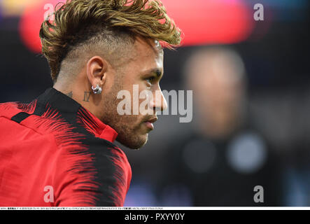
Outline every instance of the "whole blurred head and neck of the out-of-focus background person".
<svg viewBox="0 0 310 224"><path fill-rule="evenodd" d="M223 137L242 122L246 71L236 51L217 45L197 50L186 63L185 80L195 93L195 112L202 132Z"/></svg>

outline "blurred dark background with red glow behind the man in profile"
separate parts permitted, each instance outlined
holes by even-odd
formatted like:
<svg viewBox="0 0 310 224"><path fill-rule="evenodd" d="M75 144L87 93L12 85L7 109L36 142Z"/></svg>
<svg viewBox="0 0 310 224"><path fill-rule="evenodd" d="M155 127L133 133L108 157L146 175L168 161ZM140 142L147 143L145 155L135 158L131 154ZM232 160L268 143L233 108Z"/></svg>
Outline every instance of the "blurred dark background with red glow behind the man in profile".
<svg viewBox="0 0 310 224"><path fill-rule="evenodd" d="M52 86L38 29L57 2L0 0L0 102ZM165 50L162 90L193 90L193 120L160 116L144 148L124 149L125 205L310 206L310 2L162 2L184 32Z"/></svg>

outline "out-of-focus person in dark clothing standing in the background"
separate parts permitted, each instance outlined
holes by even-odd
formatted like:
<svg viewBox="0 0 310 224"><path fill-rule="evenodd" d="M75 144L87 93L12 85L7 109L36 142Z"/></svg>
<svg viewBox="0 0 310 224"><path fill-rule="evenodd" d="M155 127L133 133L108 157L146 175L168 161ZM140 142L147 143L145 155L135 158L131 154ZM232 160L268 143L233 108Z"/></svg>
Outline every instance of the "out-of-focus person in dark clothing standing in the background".
<svg viewBox="0 0 310 224"><path fill-rule="evenodd" d="M281 204L278 162L251 124L238 53L224 46L197 50L185 65L185 83L193 90L193 125L165 150L167 179L157 190L163 205ZM255 186L262 186L263 202L254 201Z"/></svg>

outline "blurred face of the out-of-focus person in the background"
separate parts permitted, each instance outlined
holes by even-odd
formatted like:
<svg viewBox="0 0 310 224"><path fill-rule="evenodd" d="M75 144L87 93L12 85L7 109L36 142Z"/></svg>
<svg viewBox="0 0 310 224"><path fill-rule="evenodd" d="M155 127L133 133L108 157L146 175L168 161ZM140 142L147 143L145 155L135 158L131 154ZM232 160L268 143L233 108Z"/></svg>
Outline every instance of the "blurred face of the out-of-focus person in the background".
<svg viewBox="0 0 310 224"><path fill-rule="evenodd" d="M244 82L239 64L230 55L204 52L192 62L190 87L202 116L218 118L231 115L240 107Z"/></svg>

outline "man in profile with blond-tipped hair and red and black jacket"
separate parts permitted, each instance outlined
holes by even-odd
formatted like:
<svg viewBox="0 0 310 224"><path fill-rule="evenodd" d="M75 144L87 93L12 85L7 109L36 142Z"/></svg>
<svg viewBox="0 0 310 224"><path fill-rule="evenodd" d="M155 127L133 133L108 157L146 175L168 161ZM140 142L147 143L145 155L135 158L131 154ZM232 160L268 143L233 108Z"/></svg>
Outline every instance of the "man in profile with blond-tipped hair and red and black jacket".
<svg viewBox="0 0 310 224"><path fill-rule="evenodd" d="M58 5L40 30L54 86L29 104L0 104L0 206L122 206L132 172L113 141L146 144L167 107L161 46L178 45L180 33L157 0ZM122 115L118 93L131 93L131 105L134 85L154 97Z"/></svg>

